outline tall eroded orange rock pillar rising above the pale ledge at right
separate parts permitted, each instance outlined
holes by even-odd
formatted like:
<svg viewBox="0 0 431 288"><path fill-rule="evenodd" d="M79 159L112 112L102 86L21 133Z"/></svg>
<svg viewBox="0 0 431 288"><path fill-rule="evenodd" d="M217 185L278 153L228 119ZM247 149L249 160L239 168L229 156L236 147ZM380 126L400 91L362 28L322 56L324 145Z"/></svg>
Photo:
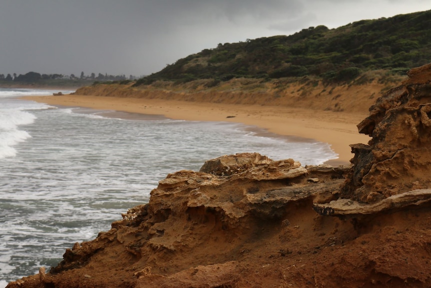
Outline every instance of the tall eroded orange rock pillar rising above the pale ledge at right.
<svg viewBox="0 0 431 288"><path fill-rule="evenodd" d="M409 71L409 78L380 97L359 125L372 137L350 145L352 175L341 197L365 203L431 187L431 65Z"/></svg>

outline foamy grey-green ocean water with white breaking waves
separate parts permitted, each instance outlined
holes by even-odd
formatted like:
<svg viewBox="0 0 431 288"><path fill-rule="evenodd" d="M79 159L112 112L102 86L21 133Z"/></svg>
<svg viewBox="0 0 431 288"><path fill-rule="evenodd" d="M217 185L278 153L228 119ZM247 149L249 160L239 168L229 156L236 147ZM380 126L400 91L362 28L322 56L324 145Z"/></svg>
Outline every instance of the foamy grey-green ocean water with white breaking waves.
<svg viewBox="0 0 431 288"><path fill-rule="evenodd" d="M52 92L0 88L0 287L55 266L74 242L109 230L168 173L240 152L302 165L336 158L326 143L241 124L18 99Z"/></svg>

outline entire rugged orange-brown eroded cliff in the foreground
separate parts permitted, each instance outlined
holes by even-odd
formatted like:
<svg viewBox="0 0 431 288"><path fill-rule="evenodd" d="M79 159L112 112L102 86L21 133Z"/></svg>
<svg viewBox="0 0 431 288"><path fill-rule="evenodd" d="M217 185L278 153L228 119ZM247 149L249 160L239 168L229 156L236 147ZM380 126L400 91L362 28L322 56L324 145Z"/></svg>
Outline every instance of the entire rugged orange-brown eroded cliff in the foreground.
<svg viewBox="0 0 431 288"><path fill-rule="evenodd" d="M208 160L7 287L431 286L431 65L408 76L358 125L354 165Z"/></svg>

